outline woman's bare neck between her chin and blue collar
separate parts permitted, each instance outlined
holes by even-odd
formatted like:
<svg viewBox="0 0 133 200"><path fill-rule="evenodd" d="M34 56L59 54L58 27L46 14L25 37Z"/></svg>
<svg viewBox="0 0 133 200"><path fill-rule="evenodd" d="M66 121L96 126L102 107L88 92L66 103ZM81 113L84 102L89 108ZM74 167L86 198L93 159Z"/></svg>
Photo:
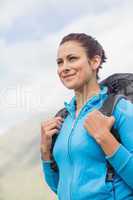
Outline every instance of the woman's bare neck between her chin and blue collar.
<svg viewBox="0 0 133 200"><path fill-rule="evenodd" d="M82 88L75 90L76 96L76 113L78 114L82 106L93 96L98 94L100 91L100 86L97 82L92 84L85 84Z"/></svg>

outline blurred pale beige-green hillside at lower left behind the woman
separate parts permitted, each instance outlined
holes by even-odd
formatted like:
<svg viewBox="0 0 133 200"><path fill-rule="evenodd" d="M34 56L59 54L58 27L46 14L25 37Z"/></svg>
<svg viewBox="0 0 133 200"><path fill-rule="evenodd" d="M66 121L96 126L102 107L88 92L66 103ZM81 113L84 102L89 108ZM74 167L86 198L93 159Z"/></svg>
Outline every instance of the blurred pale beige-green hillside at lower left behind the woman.
<svg viewBox="0 0 133 200"><path fill-rule="evenodd" d="M0 200L56 200L40 164L41 113L0 135Z"/></svg>

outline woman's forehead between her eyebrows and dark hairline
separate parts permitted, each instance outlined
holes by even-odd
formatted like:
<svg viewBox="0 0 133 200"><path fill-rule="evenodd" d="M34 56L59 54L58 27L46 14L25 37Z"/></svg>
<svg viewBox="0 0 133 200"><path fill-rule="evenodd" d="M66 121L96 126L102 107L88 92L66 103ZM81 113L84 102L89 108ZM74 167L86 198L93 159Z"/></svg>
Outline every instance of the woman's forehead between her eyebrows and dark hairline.
<svg viewBox="0 0 133 200"><path fill-rule="evenodd" d="M85 53L84 47L79 42L68 41L61 44L57 51L57 57L65 57L69 54L82 54Z"/></svg>

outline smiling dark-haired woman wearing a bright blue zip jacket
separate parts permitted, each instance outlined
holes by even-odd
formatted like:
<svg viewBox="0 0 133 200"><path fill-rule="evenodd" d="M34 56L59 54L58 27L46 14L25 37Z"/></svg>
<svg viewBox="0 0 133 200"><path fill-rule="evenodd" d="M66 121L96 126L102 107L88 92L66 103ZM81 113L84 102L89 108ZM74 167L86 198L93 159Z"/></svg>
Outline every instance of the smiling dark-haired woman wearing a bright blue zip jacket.
<svg viewBox="0 0 133 200"><path fill-rule="evenodd" d="M65 36L58 48L57 72L74 96L65 102L65 120L42 124L41 158L45 180L59 200L133 200L133 104L121 99L111 117L98 111L108 98L108 88L98 84L105 60L99 42L83 33ZM122 143L111 134L112 126ZM59 130L54 171L50 148ZM106 181L107 161L115 169L112 181Z"/></svg>

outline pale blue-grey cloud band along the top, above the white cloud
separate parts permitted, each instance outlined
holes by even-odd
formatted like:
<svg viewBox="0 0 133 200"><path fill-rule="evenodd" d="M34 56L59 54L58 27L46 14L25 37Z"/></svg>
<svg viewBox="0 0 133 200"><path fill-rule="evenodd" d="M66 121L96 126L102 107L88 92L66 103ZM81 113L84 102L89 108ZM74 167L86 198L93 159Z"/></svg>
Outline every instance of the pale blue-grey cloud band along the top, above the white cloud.
<svg viewBox="0 0 133 200"><path fill-rule="evenodd" d="M100 15L120 4L125 3L120 0L102 3L98 0L5 0L0 3L0 36L7 42L47 37L87 13Z"/></svg>

